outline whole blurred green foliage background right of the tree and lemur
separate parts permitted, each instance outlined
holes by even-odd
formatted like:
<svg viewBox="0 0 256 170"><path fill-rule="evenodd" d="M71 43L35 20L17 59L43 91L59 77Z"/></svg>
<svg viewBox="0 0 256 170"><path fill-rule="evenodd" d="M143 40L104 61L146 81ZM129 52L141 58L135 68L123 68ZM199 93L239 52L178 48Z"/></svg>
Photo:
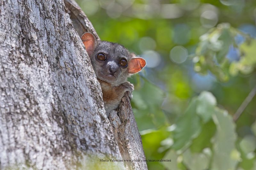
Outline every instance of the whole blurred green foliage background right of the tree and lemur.
<svg viewBox="0 0 256 170"><path fill-rule="evenodd" d="M102 40L142 56L129 81L148 169L255 170L255 0L77 0Z"/></svg>

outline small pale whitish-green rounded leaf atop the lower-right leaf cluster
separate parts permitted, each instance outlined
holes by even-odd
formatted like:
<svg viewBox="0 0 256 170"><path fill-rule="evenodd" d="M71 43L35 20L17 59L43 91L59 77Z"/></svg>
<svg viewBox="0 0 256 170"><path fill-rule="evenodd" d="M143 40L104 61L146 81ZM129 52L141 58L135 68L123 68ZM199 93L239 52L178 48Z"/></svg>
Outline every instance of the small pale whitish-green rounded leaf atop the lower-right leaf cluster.
<svg viewBox="0 0 256 170"><path fill-rule="evenodd" d="M203 119L204 123L208 122L212 118L216 104L216 98L210 92L203 91L198 96L196 113Z"/></svg>

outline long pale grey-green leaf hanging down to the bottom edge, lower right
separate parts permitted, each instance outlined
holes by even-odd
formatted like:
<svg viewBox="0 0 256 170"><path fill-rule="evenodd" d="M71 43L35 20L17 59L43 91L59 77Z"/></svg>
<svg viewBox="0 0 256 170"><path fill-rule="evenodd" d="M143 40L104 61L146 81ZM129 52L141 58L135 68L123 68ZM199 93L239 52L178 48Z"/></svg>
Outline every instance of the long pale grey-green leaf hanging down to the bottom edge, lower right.
<svg viewBox="0 0 256 170"><path fill-rule="evenodd" d="M234 170L240 154L235 148L236 132L232 117L225 110L216 109L213 121L217 133L213 140L213 160L211 170Z"/></svg>

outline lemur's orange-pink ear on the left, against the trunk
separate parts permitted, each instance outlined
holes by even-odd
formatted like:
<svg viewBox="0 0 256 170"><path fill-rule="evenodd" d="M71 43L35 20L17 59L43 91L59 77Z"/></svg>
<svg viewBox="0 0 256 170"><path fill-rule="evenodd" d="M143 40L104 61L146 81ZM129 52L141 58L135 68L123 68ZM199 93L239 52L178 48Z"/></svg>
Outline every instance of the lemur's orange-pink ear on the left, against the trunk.
<svg viewBox="0 0 256 170"><path fill-rule="evenodd" d="M81 37L85 49L88 53L89 56L91 56L93 54L93 51L95 49L95 38L94 36L90 33L90 32L86 32L82 35Z"/></svg>

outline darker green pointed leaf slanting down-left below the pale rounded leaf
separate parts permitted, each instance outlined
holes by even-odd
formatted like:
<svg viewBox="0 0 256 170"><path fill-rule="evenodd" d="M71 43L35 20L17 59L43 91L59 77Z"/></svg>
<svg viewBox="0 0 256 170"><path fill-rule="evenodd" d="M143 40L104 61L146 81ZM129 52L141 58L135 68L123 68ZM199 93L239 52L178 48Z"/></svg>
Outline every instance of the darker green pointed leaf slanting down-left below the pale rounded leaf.
<svg viewBox="0 0 256 170"><path fill-rule="evenodd" d="M196 114L196 98L192 99L188 109L182 115L173 131L174 144L172 148L175 150L182 149L191 143L201 132L200 117Z"/></svg>

